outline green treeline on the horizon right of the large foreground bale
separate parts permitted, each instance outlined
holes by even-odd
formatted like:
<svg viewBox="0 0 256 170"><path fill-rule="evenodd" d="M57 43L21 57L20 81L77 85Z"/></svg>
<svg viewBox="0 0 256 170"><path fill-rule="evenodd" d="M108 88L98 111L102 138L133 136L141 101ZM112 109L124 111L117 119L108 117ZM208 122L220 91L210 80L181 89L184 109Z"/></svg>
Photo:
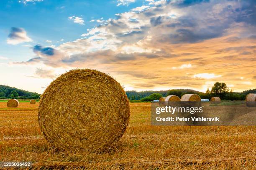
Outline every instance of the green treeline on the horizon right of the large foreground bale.
<svg viewBox="0 0 256 170"><path fill-rule="evenodd" d="M197 94L201 99L209 99L218 96L221 100L245 100L248 93L256 93L256 89L250 89L243 92L233 92L224 82L216 82L212 89L207 89L206 92L199 92L191 89L173 89L165 91L127 91L126 94L129 100L153 101L158 100L160 97L168 95L177 95L182 97L184 94Z"/></svg>

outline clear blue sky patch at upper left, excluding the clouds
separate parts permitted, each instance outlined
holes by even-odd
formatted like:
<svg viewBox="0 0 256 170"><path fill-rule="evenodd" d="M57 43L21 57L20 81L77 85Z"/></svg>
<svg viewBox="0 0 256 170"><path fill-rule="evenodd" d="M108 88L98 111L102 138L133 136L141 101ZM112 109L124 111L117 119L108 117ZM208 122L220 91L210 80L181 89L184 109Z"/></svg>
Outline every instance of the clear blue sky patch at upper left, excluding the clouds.
<svg viewBox="0 0 256 170"><path fill-rule="evenodd" d="M87 29L91 29L98 23L90 22L93 19L106 20L116 18L117 13L123 13L143 4L142 0L118 5L118 1L112 0L44 0L44 1L20 1L2 0L0 3L0 52L13 60L21 61L33 56L29 47L6 44L6 37L11 27L24 28L29 37L33 39L30 45L59 45L63 42L80 38ZM83 18L84 25L68 20L70 16ZM52 42L46 42L50 40ZM25 44L26 45L26 44ZM15 51L19 52L19 55Z"/></svg>

